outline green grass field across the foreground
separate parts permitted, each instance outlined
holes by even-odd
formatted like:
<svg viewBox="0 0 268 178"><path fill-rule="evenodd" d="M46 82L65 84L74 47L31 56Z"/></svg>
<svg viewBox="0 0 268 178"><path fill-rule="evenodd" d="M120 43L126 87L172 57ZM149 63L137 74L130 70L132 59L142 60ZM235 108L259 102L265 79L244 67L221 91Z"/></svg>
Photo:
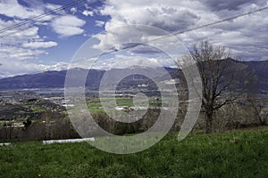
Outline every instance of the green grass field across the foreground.
<svg viewBox="0 0 268 178"><path fill-rule="evenodd" d="M268 130L176 136L131 155L86 142L0 147L0 177L268 177Z"/></svg>

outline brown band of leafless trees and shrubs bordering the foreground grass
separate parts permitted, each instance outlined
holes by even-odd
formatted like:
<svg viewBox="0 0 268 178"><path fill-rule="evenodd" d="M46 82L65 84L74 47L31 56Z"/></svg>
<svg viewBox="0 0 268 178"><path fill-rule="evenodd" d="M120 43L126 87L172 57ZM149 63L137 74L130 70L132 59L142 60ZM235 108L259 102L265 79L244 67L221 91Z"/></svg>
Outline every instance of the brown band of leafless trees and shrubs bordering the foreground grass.
<svg viewBox="0 0 268 178"><path fill-rule="evenodd" d="M212 123L213 132L224 132L227 130L239 129L256 125L267 125L268 119L266 111L257 113L255 105L250 105L251 102L232 102L217 110L214 113L214 121ZM259 105L257 105L259 106ZM178 116L172 125L171 132L179 131L180 126L184 121L187 111L187 104L180 105ZM162 113L166 119L169 117L168 111ZM144 117L133 123L121 123L115 121L105 113L93 113L92 117L96 121L95 124L88 124L88 115L85 113L76 113L77 122L88 129L89 136L102 136L94 132L94 126L100 125L106 132L111 134L140 134L146 132L149 128L155 125L160 114L159 109L148 109ZM265 116L262 116L265 115ZM260 120L260 117L263 120ZM74 121L73 121L74 122ZM80 138L76 132L69 117L57 119L51 123L34 122L27 127L0 127L1 140L16 140L19 142L26 141L42 141L54 139L71 139ZM194 129L200 129L205 132L205 113L200 112L199 118Z"/></svg>

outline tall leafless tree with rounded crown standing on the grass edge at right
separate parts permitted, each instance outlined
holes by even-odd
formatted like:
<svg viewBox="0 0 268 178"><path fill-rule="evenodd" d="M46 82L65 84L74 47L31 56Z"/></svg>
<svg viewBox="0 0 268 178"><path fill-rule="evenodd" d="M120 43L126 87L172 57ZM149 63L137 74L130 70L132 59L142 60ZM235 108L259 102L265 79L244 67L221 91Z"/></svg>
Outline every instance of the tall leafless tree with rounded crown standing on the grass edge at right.
<svg viewBox="0 0 268 178"><path fill-rule="evenodd" d="M214 110L241 98L253 84L254 75L242 62L232 60L230 49L222 45L214 46L207 41L189 48L183 61L190 59L196 61L203 84L205 132L212 133Z"/></svg>

